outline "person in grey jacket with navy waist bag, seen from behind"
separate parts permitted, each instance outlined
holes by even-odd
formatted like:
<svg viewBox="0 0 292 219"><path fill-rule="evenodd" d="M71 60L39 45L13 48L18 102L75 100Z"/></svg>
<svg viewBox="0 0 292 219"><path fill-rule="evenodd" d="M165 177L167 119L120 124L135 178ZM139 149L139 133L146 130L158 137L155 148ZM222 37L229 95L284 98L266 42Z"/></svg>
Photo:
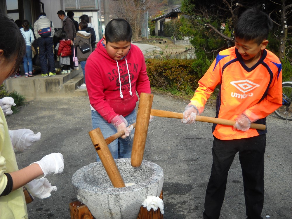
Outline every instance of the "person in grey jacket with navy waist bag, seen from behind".
<svg viewBox="0 0 292 219"><path fill-rule="evenodd" d="M51 34L43 37L40 34L43 29L51 28ZM37 39L39 48L39 62L41 64L41 76L55 76L55 59L54 59L54 43L53 36L55 29L53 23L46 17L46 13L42 12L39 19L34 22L34 35Z"/></svg>

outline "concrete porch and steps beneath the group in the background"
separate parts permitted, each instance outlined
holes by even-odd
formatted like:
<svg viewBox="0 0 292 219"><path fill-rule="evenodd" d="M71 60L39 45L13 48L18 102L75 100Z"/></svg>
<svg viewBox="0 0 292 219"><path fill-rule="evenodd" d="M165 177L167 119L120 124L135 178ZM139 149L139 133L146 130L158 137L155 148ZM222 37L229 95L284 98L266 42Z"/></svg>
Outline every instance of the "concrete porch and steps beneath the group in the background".
<svg viewBox="0 0 292 219"><path fill-rule="evenodd" d="M17 91L24 95L27 100L46 97L67 97L85 96L86 89L79 89L84 83L81 66L79 70L73 70L68 74L57 74L53 77L41 77L36 74L34 77L8 78L4 84L8 91ZM81 90L81 91L79 91ZM83 91L84 90L84 91Z"/></svg>

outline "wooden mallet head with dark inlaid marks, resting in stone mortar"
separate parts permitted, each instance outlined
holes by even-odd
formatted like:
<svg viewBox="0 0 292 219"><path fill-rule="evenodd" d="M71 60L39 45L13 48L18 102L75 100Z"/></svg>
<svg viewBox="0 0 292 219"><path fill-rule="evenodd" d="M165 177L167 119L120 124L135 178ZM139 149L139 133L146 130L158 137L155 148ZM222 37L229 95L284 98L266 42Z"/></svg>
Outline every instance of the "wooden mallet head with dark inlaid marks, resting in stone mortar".
<svg viewBox="0 0 292 219"><path fill-rule="evenodd" d="M115 188L125 187L124 180L119 172L117 164L114 162L114 158L112 157L109 148L107 147L107 142L105 141L100 128L95 128L88 132L88 134L112 185Z"/></svg>

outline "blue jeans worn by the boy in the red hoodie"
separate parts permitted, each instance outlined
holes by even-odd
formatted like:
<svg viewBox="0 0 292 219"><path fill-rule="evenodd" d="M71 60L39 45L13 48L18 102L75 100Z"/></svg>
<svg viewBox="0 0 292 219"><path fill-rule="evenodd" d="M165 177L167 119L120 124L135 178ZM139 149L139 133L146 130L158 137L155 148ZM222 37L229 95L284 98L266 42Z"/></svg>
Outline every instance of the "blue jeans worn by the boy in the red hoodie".
<svg viewBox="0 0 292 219"><path fill-rule="evenodd" d="M134 109L133 112L125 117L128 121L128 126L136 122L136 116L137 115ZM94 110L91 110L91 119L93 129L100 128L100 131L105 139L117 133L117 129ZM134 132L135 129L132 130L131 134L127 138L118 138L108 145L114 159L131 158ZM98 154L96 154L96 161L100 161Z"/></svg>

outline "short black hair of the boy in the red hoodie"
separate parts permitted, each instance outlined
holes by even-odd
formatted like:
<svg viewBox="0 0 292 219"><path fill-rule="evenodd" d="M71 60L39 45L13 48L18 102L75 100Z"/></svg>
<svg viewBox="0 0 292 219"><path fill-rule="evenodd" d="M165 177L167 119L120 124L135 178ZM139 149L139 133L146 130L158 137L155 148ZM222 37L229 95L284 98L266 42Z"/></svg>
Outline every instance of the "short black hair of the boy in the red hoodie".
<svg viewBox="0 0 292 219"><path fill-rule="evenodd" d="M108 22L105 27L105 39L106 43L128 41L132 39L132 27L128 21L123 18L116 18Z"/></svg>

